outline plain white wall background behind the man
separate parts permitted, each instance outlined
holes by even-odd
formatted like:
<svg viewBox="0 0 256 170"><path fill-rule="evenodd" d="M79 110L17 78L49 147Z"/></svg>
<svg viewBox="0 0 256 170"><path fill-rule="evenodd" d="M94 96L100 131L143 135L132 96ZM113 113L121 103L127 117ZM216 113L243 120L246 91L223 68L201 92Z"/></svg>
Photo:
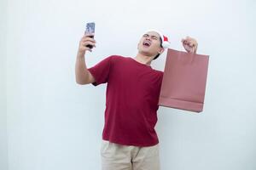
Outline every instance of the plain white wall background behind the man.
<svg viewBox="0 0 256 170"><path fill-rule="evenodd" d="M85 23L96 22L90 67L111 54L135 56L148 29L182 49L195 37L209 54L204 111L160 107L162 170L255 170L253 0L1 0L0 169L101 169L106 84L75 82ZM166 53L152 66L164 70Z"/></svg>

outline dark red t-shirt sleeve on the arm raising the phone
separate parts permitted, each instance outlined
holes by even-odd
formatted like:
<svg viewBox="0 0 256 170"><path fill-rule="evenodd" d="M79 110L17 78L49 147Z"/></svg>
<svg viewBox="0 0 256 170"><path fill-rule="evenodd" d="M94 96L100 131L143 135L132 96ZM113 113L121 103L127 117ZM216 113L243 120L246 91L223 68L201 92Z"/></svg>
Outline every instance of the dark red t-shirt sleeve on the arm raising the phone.
<svg viewBox="0 0 256 170"><path fill-rule="evenodd" d="M92 82L94 86L108 82L109 72L111 68L111 58L112 56L109 56L106 59L102 59L102 61L88 69L88 71L90 71L90 74L96 80L96 82Z"/></svg>

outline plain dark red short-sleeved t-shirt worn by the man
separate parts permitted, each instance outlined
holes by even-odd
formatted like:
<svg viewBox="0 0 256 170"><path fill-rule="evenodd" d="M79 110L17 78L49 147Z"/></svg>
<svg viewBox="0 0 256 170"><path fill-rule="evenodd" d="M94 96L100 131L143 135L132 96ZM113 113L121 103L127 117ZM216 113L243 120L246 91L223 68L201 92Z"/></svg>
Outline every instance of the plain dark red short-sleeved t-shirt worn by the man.
<svg viewBox="0 0 256 170"><path fill-rule="evenodd" d="M163 71L131 57L109 56L88 69L99 84L108 82L102 139L116 144L151 146Z"/></svg>

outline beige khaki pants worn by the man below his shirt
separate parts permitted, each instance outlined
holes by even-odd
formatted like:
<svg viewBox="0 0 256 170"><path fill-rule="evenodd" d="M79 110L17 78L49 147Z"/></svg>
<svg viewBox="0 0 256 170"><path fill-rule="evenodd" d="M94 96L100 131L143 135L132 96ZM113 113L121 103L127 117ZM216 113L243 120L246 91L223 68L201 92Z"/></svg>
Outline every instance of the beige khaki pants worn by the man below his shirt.
<svg viewBox="0 0 256 170"><path fill-rule="evenodd" d="M102 170L160 170L159 144L148 147L102 140Z"/></svg>

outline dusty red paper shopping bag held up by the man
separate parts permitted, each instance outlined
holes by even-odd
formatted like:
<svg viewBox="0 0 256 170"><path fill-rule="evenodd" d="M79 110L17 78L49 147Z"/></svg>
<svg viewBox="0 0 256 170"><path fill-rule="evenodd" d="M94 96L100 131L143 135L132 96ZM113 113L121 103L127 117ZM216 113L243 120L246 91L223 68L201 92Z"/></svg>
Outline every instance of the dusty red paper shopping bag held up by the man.
<svg viewBox="0 0 256 170"><path fill-rule="evenodd" d="M203 110L209 55L169 48L159 105L185 111Z"/></svg>

